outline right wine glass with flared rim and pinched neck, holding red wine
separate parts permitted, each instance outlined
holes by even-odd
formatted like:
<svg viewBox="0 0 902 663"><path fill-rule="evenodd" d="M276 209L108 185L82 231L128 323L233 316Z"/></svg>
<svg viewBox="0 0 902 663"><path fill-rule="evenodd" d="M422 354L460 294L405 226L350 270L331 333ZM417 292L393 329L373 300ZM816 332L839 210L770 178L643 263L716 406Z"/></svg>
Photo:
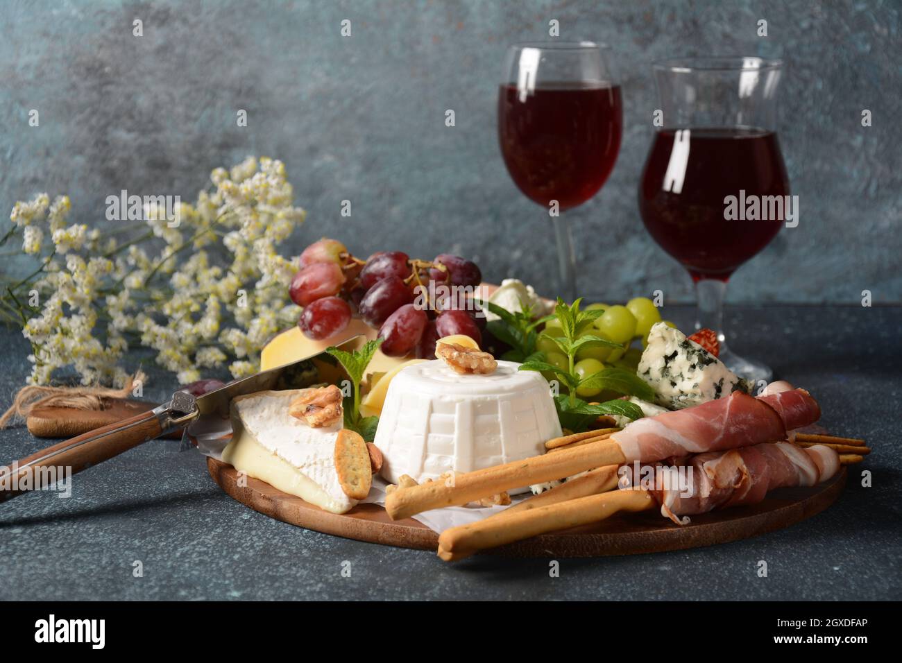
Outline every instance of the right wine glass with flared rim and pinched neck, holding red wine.
<svg viewBox="0 0 902 663"><path fill-rule="evenodd" d="M789 180L776 132L781 70L780 61L760 58L656 63L663 125L639 187L646 228L695 282L695 328L717 332L723 363L755 382L769 382L773 372L726 344L723 296L732 273L787 217ZM758 212L746 215L756 197ZM750 218L765 212L768 218Z"/></svg>

